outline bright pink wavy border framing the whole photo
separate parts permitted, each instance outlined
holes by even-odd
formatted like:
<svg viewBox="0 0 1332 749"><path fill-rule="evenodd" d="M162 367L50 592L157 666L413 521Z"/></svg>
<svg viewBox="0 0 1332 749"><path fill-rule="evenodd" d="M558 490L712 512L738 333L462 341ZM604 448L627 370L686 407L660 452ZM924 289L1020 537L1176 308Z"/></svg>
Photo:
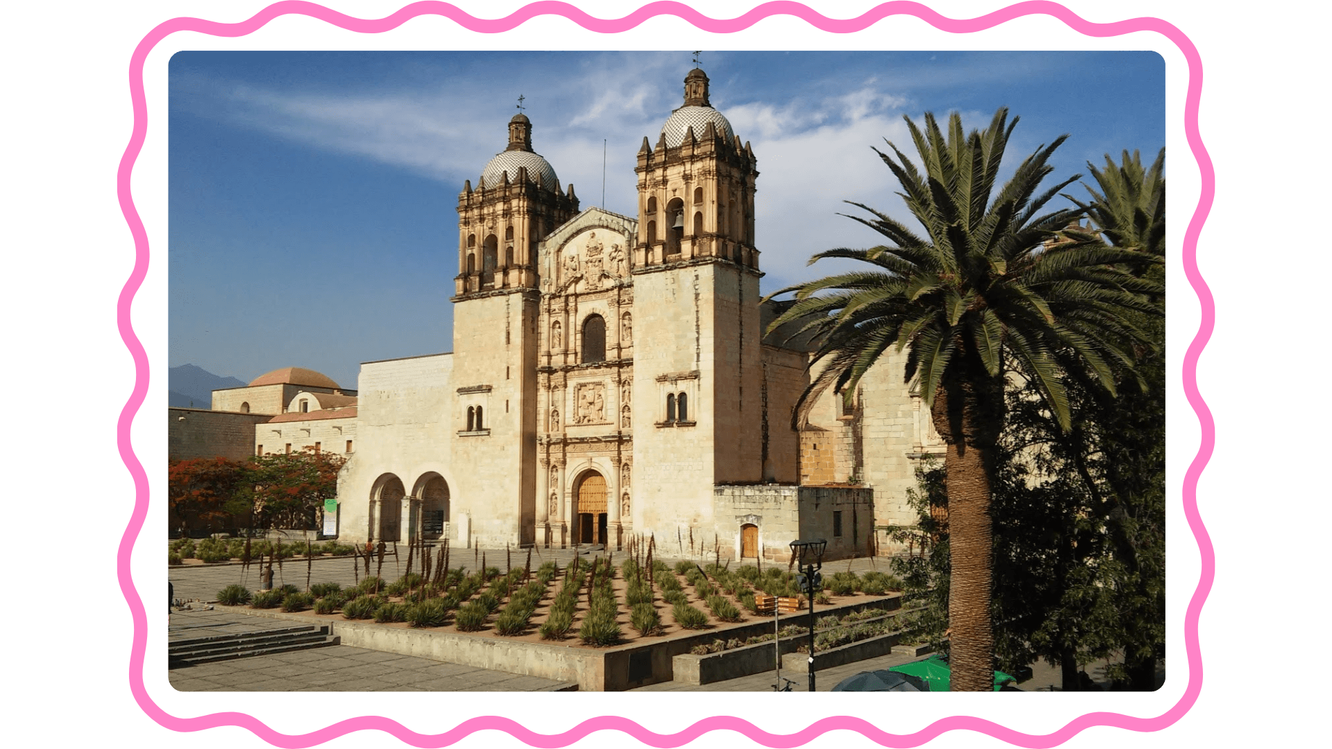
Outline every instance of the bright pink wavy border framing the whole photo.
<svg viewBox="0 0 1332 749"><path fill-rule="evenodd" d="M1189 598L1188 608L1184 613L1184 644L1188 654L1188 686L1180 700L1156 717L1140 718L1111 712L1086 713L1068 721L1062 728L1051 733L1023 733L984 718L972 716L950 716L936 720L915 733L906 734L888 733L870 721L854 716L830 716L814 721L803 730L798 730L795 733L769 733L753 722L734 716L711 716L694 722L678 733L655 733L638 725L633 720L618 716L598 716L587 718L562 733L537 733L506 717L478 716L462 721L452 730L433 734L417 733L386 717L358 716L338 721L310 733L288 734L273 730L266 724L248 713L228 712L181 718L159 708L152 696L149 696L148 690L144 688L143 670L144 652L148 646L148 616L144 610L144 602L139 597L139 592L135 589L129 569L131 552L133 550L135 540L139 537L139 532L144 525L144 517L148 514L149 496L148 473L144 470L144 466L135 454L133 445L131 444L131 425L133 424L135 414L139 412L139 408L143 405L144 397L148 393L149 378L148 356L144 352L144 347L140 344L139 337L135 335L131 323L131 305L133 304L135 293L139 291L148 273L149 260L148 232L144 229L139 212L135 209L133 196L131 193L131 176L135 168L135 160L143 149L144 137L148 132L148 105L143 83L144 61L148 59L149 52L152 52L152 49L161 40L166 39L172 33L192 31L224 37L246 36L258 31L270 20L284 15L309 16L357 33L384 33L417 16L444 16L453 20L462 28L478 33L502 33L514 29L537 16L563 16L582 28L598 33L619 33L629 31L655 16L678 16L694 24L699 29L711 33L734 33L745 31L770 16L794 16L814 28L830 33L858 32L891 16L915 16L940 31L950 33L975 33L1023 16L1046 15L1063 21L1068 25L1068 28L1084 36L1110 37L1150 31L1171 40L1180 49L1180 52L1184 53L1184 59L1188 60L1188 93L1184 99L1184 132L1188 139L1189 149L1197 160L1203 187L1197 207L1193 209L1193 216L1189 219L1188 229L1184 232L1184 275L1188 277L1189 285L1193 287L1193 292L1197 295L1197 300L1201 307L1201 323L1197 328L1197 333L1193 336L1192 343L1189 343L1188 349L1184 353L1183 365L1184 393L1189 405L1193 408L1193 412L1197 414L1197 420L1201 426L1201 442L1199 444L1193 461L1184 473L1184 514L1188 518L1189 528L1193 530L1193 537L1197 540L1203 564L1197 588L1193 590L1193 596ZM135 237L136 256L133 272L129 275L129 280L125 283L120 292L120 297L116 301L116 325L120 329L120 337L125 341L125 347L129 349L129 353L135 360L135 388L131 392L129 400L125 402L125 408L120 412L120 418L116 421L116 441L119 442L120 457L135 480L135 512L131 514L129 525L125 528L125 533L120 540L120 548L116 554L116 577L120 581L120 590L125 597L125 602L129 605L135 622L133 645L131 646L129 654L129 688L140 709L143 709L144 713L159 725L176 732L206 730L217 726L238 726L254 733L254 736L272 744L273 746L282 748L314 746L357 730L382 730L402 740L405 744L421 748L449 746L480 730L501 730L513 736L518 741L539 748L569 746L570 744L574 744L585 736L598 730L619 730L649 746L657 748L682 746L713 730L734 730L749 737L755 744L774 749L802 746L832 730L852 730L883 746L910 748L926 744L927 741L950 730L974 730L976 733L992 736L1000 741L1007 741L1008 744L1014 744L1016 746L1044 749L1047 746L1058 746L1092 726L1114 726L1135 732L1162 730L1184 717L1184 714L1188 713L1188 710L1192 709L1193 704L1197 701L1197 696L1203 688L1203 656L1197 641L1197 620L1201 614L1203 604L1207 601L1207 594L1212 589L1212 581L1216 574L1216 556L1212 549L1212 540L1211 536L1208 536L1207 529L1203 526L1201 516L1199 516L1197 512L1197 480L1203 469L1207 466L1207 462L1212 456L1212 448L1216 442L1216 426L1212 420L1212 413L1207 408L1207 404L1203 401L1203 396L1197 389L1197 360L1203 348L1207 347L1207 341L1211 339L1212 329L1216 323L1216 305L1212 300L1211 289L1197 269L1197 236L1201 232L1203 223L1207 220L1207 215L1212 208L1212 199L1216 192L1216 175L1212 169L1212 160L1203 145L1201 135L1197 131L1199 99L1203 91L1203 61L1193 43L1175 25L1154 17L1139 17L1098 24L1086 21L1068 8L1048 0L1027 0L984 16L967 20L955 20L942 16L920 3L912 3L910 0L883 3L882 5L878 5L858 17L846 20L830 19L807 5L790 0L763 3L739 17L723 20L711 19L699 13L694 8L685 5L683 3L675 3L673 0L649 3L621 19L598 19L585 13L569 3L558 0L541 0L525 5L502 19L494 20L477 19L456 5L436 0L412 3L388 17L376 20L357 19L305 0L282 0L264 8L244 21L234 24L216 23L193 17L177 17L159 24L135 47L135 52L129 61L129 91L131 100L133 103L135 127L133 135L129 139L129 145L125 147L125 153L121 156L120 167L116 171L116 192L120 199L121 212L124 213L125 221L129 224L129 231Z"/></svg>

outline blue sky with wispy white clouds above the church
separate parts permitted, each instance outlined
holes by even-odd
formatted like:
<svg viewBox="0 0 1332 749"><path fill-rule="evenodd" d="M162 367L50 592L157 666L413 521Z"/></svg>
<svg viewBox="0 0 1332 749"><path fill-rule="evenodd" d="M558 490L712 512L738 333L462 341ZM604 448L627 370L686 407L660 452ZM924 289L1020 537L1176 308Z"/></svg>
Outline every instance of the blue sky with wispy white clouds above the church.
<svg viewBox="0 0 1332 749"><path fill-rule="evenodd" d="M452 349L457 197L506 144L519 95L533 148L582 208L637 211L634 157L682 104L689 52L177 52L169 65L168 356L250 380ZM703 52L711 101L758 157L765 293L908 219L870 147L911 153L903 115L1022 117L1011 169L1071 137L1051 179L1166 144L1152 52ZM602 141L606 141L602 203ZM1007 175L1004 175L1007 176ZM1083 195L1082 188L1072 191ZM1063 203L1062 200L1058 203Z"/></svg>

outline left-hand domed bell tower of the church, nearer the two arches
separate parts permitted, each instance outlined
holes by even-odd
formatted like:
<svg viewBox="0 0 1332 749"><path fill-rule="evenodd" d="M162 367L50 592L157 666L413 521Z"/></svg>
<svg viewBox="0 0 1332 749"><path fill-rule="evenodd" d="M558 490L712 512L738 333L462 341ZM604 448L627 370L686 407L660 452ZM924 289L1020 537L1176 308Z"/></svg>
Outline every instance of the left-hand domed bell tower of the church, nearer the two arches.
<svg viewBox="0 0 1332 749"><path fill-rule="evenodd" d="M477 188L469 180L458 196L450 433L454 506L476 544L535 538L537 243L577 212L522 113Z"/></svg>

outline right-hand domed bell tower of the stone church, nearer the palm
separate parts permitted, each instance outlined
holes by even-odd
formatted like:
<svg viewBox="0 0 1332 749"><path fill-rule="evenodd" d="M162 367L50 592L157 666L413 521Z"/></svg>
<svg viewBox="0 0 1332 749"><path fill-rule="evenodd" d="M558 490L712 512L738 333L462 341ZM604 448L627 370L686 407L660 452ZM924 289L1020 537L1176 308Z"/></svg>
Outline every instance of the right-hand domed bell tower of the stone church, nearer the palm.
<svg viewBox="0 0 1332 749"><path fill-rule="evenodd" d="M763 478L763 364L753 149L702 69L638 152L634 532L713 528L717 484Z"/></svg>

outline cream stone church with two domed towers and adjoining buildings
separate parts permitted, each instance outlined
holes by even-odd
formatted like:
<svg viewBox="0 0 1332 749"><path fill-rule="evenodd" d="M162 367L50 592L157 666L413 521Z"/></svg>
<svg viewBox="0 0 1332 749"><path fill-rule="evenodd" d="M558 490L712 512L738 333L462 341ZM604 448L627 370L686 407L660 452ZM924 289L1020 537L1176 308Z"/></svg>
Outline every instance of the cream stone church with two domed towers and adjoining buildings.
<svg viewBox="0 0 1332 749"><path fill-rule="evenodd" d="M309 385L288 389L304 394L254 425L260 452L288 449L284 428L345 440L340 538L614 549L638 534L663 556L786 561L798 537L863 556L876 526L912 522L906 492L942 442L900 359L854 408L829 393L791 426L810 348L765 336L778 305L759 304L758 161L703 71L643 139L635 217L579 209L531 135L514 116L458 196L453 352L365 363L354 398L298 371Z"/></svg>

